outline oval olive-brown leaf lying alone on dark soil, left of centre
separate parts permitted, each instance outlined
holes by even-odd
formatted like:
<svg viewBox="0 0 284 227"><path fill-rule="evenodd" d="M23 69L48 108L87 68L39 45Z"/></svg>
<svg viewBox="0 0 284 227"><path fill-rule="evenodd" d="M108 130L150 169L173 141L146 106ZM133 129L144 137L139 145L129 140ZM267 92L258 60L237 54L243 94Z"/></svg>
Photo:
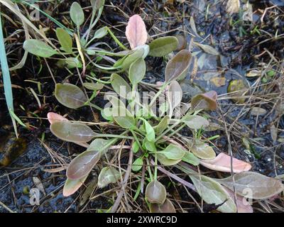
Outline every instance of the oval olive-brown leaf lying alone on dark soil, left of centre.
<svg viewBox="0 0 284 227"><path fill-rule="evenodd" d="M55 98L60 104L71 109L77 109L87 102L84 92L74 84L56 84Z"/></svg>

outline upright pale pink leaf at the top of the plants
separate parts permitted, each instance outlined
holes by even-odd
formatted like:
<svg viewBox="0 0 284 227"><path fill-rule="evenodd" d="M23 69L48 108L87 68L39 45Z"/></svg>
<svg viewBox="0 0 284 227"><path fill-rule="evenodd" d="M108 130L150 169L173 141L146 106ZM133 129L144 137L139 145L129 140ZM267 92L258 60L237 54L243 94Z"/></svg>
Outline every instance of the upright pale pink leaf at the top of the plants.
<svg viewBox="0 0 284 227"><path fill-rule="evenodd" d="M146 43L148 33L141 16L136 14L129 18L129 23L126 26L125 34L127 40L129 40L131 49Z"/></svg>

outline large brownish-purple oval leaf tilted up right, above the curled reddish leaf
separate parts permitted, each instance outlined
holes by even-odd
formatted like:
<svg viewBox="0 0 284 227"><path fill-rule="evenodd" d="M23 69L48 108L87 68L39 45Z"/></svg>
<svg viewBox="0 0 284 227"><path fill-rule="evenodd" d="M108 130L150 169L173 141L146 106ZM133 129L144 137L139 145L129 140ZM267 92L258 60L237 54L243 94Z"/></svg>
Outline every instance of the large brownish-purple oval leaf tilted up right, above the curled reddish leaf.
<svg viewBox="0 0 284 227"><path fill-rule="evenodd" d="M184 79L187 70L190 67L192 55L188 50L180 50L180 52L171 59L165 67L165 82L171 80Z"/></svg>

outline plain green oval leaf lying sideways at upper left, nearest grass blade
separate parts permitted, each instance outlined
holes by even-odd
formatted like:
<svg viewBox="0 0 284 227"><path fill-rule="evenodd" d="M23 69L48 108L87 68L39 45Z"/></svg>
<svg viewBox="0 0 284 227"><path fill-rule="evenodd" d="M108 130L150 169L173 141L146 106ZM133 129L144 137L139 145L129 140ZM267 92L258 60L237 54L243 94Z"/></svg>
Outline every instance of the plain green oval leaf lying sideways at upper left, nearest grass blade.
<svg viewBox="0 0 284 227"><path fill-rule="evenodd" d="M40 40L26 40L23 42L23 49L39 57L51 57L58 54L56 50Z"/></svg>

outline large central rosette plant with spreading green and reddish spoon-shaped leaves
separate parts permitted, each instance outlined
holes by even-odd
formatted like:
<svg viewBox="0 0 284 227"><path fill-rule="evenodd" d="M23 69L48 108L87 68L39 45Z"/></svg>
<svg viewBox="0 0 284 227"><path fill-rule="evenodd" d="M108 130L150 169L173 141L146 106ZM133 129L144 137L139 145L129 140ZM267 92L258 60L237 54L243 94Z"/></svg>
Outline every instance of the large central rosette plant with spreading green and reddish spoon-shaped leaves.
<svg viewBox="0 0 284 227"><path fill-rule="evenodd" d="M87 123L71 122L58 114L48 114L50 131L55 136L86 148L67 167L64 196L75 193L110 150L120 150L124 157L126 155L128 167L126 170L114 165L102 167L97 187L107 187L119 181L125 185L132 172L140 181L137 191L143 194L151 212L175 212L159 172L195 190L205 202L217 205L221 212L252 212L251 205L244 203L244 196L267 199L283 191L283 184L278 179L250 172L249 163L226 153L216 155L212 146L200 138L200 131L209 130L210 126L207 115L201 113L217 108L217 94L213 91L197 94L190 105L181 103L179 81L185 78L190 60L188 50L178 52L165 68L165 82L158 91L148 94L150 100L146 102L139 98L143 95L141 81L146 72L143 57L131 63L128 73L111 74L112 91L106 93L109 104L100 111L109 128L115 128L116 134L106 130L100 133ZM73 109L90 104L82 90L72 84L58 84L55 96L61 104ZM185 127L192 131L192 138L180 136L180 130ZM198 171L199 165L233 175L215 179ZM165 170L167 167L177 167L185 172L192 184ZM145 192L141 190L144 184ZM121 196L117 196L118 201ZM116 208L117 203L111 211L116 211Z"/></svg>

